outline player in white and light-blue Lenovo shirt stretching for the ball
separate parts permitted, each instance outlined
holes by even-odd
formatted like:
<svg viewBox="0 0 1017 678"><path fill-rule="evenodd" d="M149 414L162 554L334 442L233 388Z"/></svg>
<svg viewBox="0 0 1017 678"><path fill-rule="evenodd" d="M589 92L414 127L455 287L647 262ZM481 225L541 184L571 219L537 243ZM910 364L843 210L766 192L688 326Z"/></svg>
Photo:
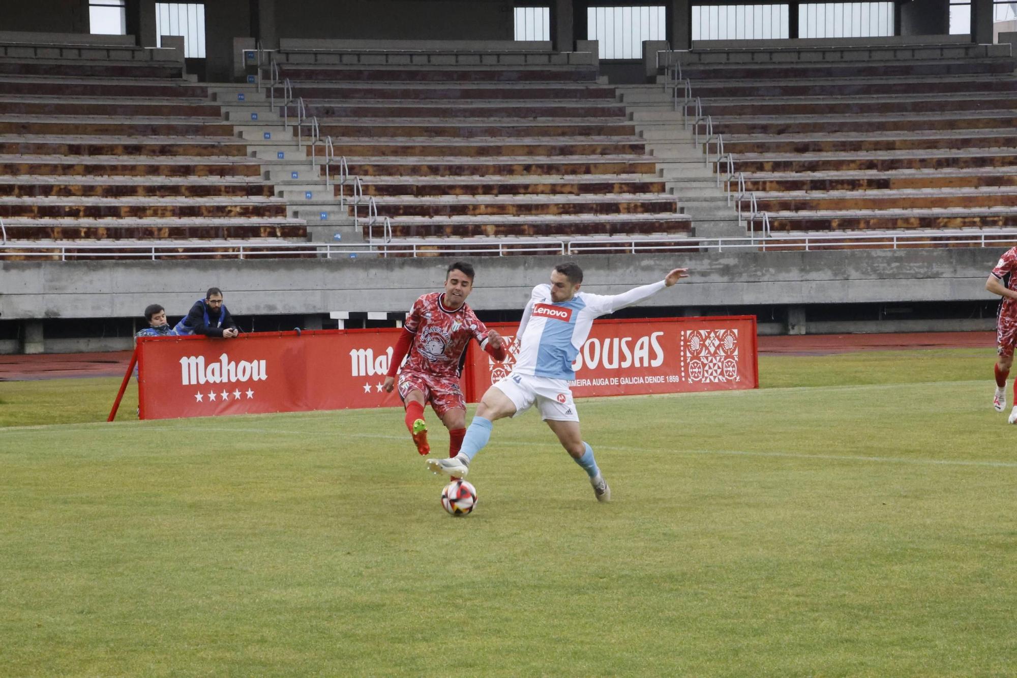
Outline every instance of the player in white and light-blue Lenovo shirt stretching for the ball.
<svg viewBox="0 0 1017 678"><path fill-rule="evenodd" d="M611 490L597 467L593 448L583 441L580 433L579 415L569 387L569 382L576 378L573 360L590 336L595 318L639 303L687 277L685 269L674 269L659 282L621 294L588 294L580 291L583 270L578 265L570 262L554 267L550 284L534 287L523 312L516 333L520 350L512 374L484 394L460 453L451 459L428 459L427 467L434 473L465 476L473 457L487 445L492 422L517 416L536 403L541 418L590 476L597 500L611 501Z"/></svg>

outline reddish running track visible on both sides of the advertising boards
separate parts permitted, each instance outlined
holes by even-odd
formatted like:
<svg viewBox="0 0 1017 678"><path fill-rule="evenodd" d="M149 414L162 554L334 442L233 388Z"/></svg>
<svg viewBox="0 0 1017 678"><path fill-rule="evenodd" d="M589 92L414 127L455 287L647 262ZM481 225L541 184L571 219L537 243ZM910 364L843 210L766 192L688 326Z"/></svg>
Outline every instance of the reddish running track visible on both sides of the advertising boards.
<svg viewBox="0 0 1017 678"><path fill-rule="evenodd" d="M760 355L829 355L866 350L991 348L994 332L915 332L909 334L815 334L760 337ZM0 382L39 379L123 377L130 351L0 355Z"/></svg>

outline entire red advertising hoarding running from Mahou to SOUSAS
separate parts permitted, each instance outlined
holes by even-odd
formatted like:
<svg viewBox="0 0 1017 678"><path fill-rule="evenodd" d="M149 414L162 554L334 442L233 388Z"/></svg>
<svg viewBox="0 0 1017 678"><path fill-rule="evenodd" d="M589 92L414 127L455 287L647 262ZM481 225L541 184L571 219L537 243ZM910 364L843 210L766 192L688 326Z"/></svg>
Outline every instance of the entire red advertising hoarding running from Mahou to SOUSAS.
<svg viewBox="0 0 1017 678"><path fill-rule="evenodd" d="M381 387L399 332L143 337L137 346L140 417L398 406L399 396ZM467 399L479 400L513 362L511 355L496 363L471 343L463 375ZM577 397L756 388L756 319L598 321L576 364Z"/></svg>

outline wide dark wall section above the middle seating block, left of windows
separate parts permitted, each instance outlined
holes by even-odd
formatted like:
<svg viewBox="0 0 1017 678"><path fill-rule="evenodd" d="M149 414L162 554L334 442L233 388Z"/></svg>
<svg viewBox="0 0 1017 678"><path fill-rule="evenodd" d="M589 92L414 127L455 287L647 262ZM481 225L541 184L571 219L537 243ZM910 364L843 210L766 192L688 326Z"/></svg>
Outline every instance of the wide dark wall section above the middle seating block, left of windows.
<svg viewBox="0 0 1017 678"><path fill-rule="evenodd" d="M508 0L304 0L276 4L280 38L512 40Z"/></svg>

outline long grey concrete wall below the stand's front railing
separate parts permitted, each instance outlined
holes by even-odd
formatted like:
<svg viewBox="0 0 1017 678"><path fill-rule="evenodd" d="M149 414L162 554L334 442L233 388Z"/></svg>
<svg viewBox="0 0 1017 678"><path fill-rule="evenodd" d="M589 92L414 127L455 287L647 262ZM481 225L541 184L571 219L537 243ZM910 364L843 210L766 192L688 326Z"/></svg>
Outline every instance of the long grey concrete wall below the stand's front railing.
<svg viewBox="0 0 1017 678"><path fill-rule="evenodd" d="M685 266L692 279L649 305L724 306L990 299L1003 248L584 257L584 289L616 293ZM148 303L181 315L211 286L235 314L405 310L444 279L447 259L0 263L7 320L127 318ZM481 309L522 308L557 257L475 260Z"/></svg>

